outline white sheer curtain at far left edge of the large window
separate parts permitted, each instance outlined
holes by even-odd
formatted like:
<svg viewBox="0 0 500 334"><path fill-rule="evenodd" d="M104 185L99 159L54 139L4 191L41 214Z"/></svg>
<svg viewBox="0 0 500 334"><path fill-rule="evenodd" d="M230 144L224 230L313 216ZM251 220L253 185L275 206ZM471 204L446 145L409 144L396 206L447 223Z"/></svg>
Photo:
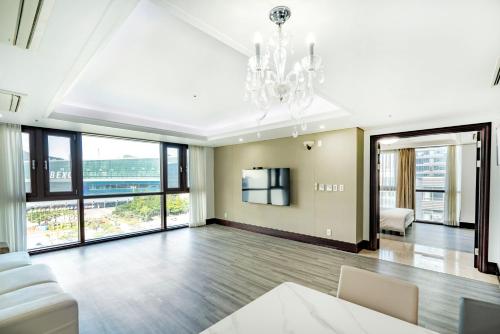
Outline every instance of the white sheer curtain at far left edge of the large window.
<svg viewBox="0 0 500 334"><path fill-rule="evenodd" d="M20 125L0 124L0 241L26 250L26 193Z"/></svg>

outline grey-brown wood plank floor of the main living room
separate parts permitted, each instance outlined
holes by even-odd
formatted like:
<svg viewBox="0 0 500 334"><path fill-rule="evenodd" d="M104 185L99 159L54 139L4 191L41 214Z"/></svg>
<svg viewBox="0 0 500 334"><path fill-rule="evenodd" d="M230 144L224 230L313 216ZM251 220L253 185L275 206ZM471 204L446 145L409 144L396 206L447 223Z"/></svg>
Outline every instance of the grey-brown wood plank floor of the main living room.
<svg viewBox="0 0 500 334"><path fill-rule="evenodd" d="M78 300L81 333L198 333L285 281L335 294L342 264L416 283L419 324L438 332L457 331L461 296L500 304L493 284L218 225L33 262L49 264Z"/></svg>

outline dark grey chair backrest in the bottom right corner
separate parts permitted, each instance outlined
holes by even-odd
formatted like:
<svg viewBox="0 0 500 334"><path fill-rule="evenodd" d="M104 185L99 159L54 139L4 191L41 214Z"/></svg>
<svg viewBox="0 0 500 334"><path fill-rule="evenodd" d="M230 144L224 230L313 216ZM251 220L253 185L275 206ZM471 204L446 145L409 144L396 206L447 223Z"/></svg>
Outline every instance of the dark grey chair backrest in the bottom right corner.
<svg viewBox="0 0 500 334"><path fill-rule="evenodd" d="M490 334L500 332L500 305L460 299L459 334Z"/></svg>

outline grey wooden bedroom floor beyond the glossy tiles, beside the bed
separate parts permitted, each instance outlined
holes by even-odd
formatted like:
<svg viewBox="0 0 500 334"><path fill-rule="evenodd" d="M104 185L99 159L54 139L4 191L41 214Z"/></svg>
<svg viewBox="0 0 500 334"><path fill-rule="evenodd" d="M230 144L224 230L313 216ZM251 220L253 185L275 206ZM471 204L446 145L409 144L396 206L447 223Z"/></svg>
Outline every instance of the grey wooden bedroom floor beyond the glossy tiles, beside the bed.
<svg viewBox="0 0 500 334"><path fill-rule="evenodd" d="M405 236L381 233L383 239L403 241L466 253L474 253L474 230L446 225L414 222Z"/></svg>

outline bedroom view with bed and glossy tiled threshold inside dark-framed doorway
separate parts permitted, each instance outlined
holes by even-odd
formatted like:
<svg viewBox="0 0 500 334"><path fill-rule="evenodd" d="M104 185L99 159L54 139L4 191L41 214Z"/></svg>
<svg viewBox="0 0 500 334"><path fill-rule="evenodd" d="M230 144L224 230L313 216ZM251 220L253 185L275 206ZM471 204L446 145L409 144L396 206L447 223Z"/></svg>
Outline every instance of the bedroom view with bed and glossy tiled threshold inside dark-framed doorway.
<svg viewBox="0 0 500 334"><path fill-rule="evenodd" d="M496 282L478 262L478 131L377 142L378 249L361 255Z"/></svg>

